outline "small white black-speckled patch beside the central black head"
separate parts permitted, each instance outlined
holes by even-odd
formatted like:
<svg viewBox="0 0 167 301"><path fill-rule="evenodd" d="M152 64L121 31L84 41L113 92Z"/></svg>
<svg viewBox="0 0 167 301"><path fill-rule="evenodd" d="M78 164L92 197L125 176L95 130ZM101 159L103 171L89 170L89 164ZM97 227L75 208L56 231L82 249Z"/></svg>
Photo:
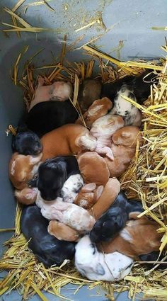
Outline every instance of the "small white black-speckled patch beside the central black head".
<svg viewBox="0 0 167 301"><path fill-rule="evenodd" d="M64 202L74 203L76 195L83 185L84 181L81 177L81 174L69 176L67 181L65 181L61 191Z"/></svg>

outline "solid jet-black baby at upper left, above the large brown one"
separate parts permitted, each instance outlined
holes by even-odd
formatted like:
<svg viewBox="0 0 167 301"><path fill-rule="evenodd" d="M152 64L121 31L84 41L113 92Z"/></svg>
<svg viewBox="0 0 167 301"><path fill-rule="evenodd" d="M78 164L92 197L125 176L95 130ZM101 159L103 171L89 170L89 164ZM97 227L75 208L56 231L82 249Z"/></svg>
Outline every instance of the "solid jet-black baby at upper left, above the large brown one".
<svg viewBox="0 0 167 301"><path fill-rule="evenodd" d="M37 103L27 114L25 123L39 137L79 117L70 101L44 101Z"/></svg>

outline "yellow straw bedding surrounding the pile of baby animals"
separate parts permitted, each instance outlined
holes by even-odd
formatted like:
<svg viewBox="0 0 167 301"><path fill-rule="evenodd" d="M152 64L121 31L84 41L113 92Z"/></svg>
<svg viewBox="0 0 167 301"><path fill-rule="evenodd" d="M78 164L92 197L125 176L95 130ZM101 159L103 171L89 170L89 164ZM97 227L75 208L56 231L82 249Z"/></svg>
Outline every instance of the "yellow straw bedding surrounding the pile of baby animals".
<svg viewBox="0 0 167 301"><path fill-rule="evenodd" d="M18 1L21 5L23 1ZM11 13L11 11L9 12ZM13 21L16 22L16 14L13 15ZM19 20L17 20L19 21ZM24 28L30 28L29 24L20 23ZM16 28L16 32L18 28ZM42 29L41 29L42 30ZM21 30L20 30L21 31ZM26 31L26 30L25 30ZM28 29L27 29L28 31ZM66 40L67 37L64 37ZM84 46L87 54L91 55L88 64L69 63L65 62L66 47L62 48L62 54L57 64L50 66L35 67L31 62L33 57L38 55L35 53L29 59L23 69L23 76L18 79L18 64L21 57L28 51L25 47L23 52L18 55L16 63L13 66L12 79L13 83L20 85L24 89L23 99L27 108L30 106L35 93L35 86L37 84L37 72L44 76L45 84L52 84L55 80L69 80L74 84L74 98L71 100L76 106L76 109L81 110L77 103L77 94L79 89L79 82L84 78L89 77L93 73L93 65L95 60L99 63L96 77L100 77L103 82L112 82L127 74L134 76L144 71L144 68L150 67L161 71L158 74L159 84L151 86L151 96L145 101L143 106L134 103L135 106L142 110L142 136L144 138L144 145L139 149L137 146L135 157L130 164L129 169L120 178L122 183L122 190L127 193L128 198L138 197L142 200L144 212L142 215L148 215L159 223L159 232L163 232L161 239L160 252L164 254L164 261L166 261L166 246L167 246L167 60L162 59L161 64L154 64L154 62L120 62L113 57L110 57L99 50ZM75 45L75 43L74 43ZM69 47L69 49L72 49ZM167 45L162 47L167 52ZM107 63L106 63L107 60ZM113 68L112 62L117 67ZM47 72L46 72L47 69ZM145 79L146 80L146 79ZM127 101L132 100L126 98ZM132 102L133 103L133 102ZM83 120L84 123L84 120ZM15 130L10 125L7 133L12 132L15 135ZM151 270L143 267L139 262L134 263L132 272L125 280L119 283L107 283L103 281L93 282L85 278L81 278L79 273L74 269L74 266L68 261L64 261L62 266L52 266L46 269L42 263L35 261L33 253L28 249L28 242L26 242L20 229L21 205L16 205L16 225L15 234L11 239L5 242L7 247L3 258L0 261L1 271L8 271L8 275L0 280L0 296L3 293L10 293L11 290L16 289L18 293L23 295L23 300L37 293L41 300L47 301L42 293L42 290L50 292L58 297L62 297L61 288L67 283L79 285L74 293L77 293L82 285L88 285L88 288L95 288L100 285L106 291L106 297L109 300L114 300L113 293L128 290L129 297L135 300L137 293L144 293L144 298L154 298L155 300L167 299L167 271L155 271L155 267L163 263L157 261L155 267ZM13 229L1 229L2 231ZM69 299L68 299L69 300Z"/></svg>

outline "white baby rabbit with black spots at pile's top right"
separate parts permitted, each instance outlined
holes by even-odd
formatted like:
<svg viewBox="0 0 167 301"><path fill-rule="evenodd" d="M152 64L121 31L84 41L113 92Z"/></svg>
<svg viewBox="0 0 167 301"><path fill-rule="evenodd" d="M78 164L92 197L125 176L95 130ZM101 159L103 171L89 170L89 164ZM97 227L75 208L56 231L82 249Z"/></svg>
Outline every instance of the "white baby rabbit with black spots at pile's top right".
<svg viewBox="0 0 167 301"><path fill-rule="evenodd" d="M122 116L125 121L125 125L135 125L139 127L142 123L142 115L138 108L126 101L122 96L127 96L132 99L132 101L137 102L133 90L129 89L129 86L122 85L120 90L117 92L117 95L114 99L114 107L110 111L110 114L117 114Z"/></svg>

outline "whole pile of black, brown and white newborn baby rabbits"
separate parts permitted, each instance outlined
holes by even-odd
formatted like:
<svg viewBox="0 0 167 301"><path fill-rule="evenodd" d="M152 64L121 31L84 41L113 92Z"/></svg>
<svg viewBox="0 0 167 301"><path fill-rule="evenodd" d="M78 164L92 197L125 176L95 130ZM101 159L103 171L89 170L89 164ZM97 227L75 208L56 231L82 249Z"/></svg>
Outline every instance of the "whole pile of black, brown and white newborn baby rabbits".
<svg viewBox="0 0 167 301"><path fill-rule="evenodd" d="M73 259L91 280L124 278L134 260L155 259L162 234L127 200L119 176L134 157L141 112L122 98L143 102L149 72L102 86L86 79L79 104L86 127L69 101L72 86L38 79L30 110L12 141L9 178L24 205L21 230L45 266ZM139 86L139 89L138 89Z"/></svg>

